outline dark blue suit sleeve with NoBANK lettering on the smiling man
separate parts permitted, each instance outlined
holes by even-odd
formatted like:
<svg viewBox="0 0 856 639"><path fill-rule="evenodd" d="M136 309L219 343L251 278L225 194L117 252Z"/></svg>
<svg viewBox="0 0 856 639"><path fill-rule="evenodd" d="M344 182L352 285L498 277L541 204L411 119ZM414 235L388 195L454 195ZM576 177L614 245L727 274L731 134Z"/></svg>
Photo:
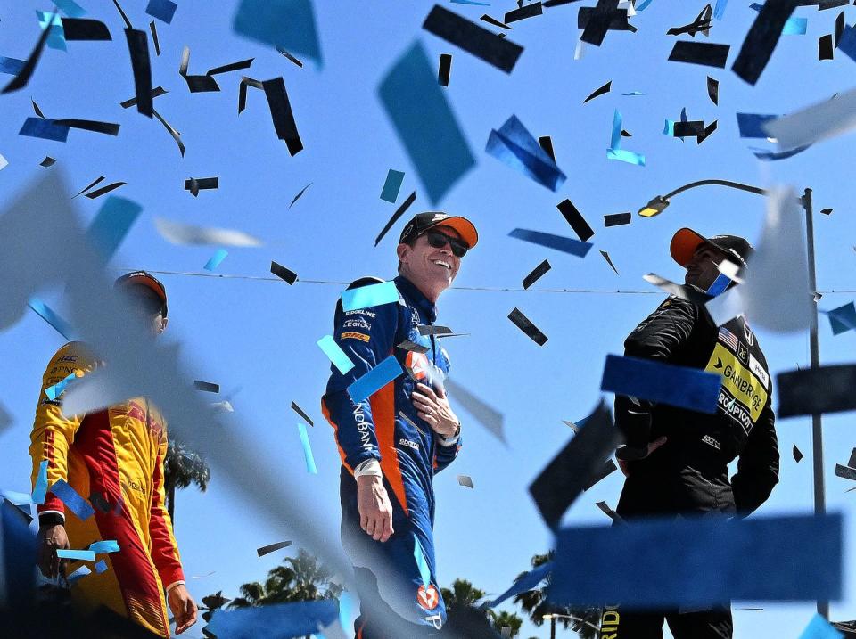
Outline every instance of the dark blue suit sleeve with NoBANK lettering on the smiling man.
<svg viewBox="0 0 856 639"><path fill-rule="evenodd" d="M351 286L358 284L360 281ZM371 402L368 399L354 402L347 389L392 352L398 307L398 304L391 303L347 313L342 311L341 304L336 307L333 339L350 357L354 367L348 373L341 373L331 365L322 406L333 425L342 462L350 471L372 457L383 459L377 443Z"/></svg>

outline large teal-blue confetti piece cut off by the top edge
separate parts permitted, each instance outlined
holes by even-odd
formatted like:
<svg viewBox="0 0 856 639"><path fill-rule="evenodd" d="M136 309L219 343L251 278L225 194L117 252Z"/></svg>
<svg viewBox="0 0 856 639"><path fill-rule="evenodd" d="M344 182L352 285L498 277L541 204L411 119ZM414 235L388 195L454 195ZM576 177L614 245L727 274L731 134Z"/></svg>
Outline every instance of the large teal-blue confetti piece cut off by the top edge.
<svg viewBox="0 0 856 639"><path fill-rule="evenodd" d="M322 63L310 0L241 0L232 28L241 36Z"/></svg>

